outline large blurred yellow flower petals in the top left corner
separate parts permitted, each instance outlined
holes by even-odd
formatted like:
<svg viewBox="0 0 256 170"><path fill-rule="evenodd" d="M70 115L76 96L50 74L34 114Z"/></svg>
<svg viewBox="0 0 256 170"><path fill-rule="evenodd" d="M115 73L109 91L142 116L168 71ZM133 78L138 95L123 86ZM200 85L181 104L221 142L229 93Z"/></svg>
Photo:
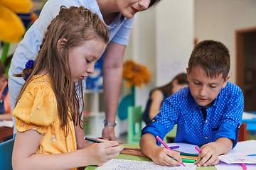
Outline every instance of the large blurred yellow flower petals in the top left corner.
<svg viewBox="0 0 256 170"><path fill-rule="evenodd" d="M25 33L25 28L16 13L28 13L31 0L0 0L0 40L18 42Z"/></svg>

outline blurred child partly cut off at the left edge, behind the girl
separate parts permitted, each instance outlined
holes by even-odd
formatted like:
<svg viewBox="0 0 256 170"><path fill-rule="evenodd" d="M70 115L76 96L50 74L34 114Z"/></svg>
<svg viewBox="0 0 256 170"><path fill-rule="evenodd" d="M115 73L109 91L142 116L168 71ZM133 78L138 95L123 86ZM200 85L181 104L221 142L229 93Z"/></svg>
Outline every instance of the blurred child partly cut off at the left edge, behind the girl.
<svg viewBox="0 0 256 170"><path fill-rule="evenodd" d="M11 120L11 104L4 64L0 61L0 120Z"/></svg>

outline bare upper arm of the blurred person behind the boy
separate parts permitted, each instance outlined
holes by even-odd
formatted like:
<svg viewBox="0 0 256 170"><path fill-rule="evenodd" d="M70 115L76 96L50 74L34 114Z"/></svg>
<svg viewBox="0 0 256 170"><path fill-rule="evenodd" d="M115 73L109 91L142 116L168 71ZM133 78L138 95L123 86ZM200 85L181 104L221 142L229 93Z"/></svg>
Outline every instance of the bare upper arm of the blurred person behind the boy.
<svg viewBox="0 0 256 170"><path fill-rule="evenodd" d="M149 119L152 120L157 113L160 112L160 108L161 108L161 103L164 100L164 94L159 91L159 90L155 90L152 94L151 94L151 106L149 108Z"/></svg>

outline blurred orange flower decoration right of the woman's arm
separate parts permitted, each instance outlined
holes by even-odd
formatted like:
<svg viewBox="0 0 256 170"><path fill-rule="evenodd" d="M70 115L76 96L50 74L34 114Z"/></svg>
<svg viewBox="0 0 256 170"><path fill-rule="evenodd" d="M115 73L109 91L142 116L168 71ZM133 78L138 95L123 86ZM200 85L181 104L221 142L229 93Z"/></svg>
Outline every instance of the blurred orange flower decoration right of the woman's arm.
<svg viewBox="0 0 256 170"><path fill-rule="evenodd" d="M142 84L149 84L151 74L146 66L137 64L133 60L127 60L123 66L123 79L127 79L124 84L127 87L135 85L142 88Z"/></svg>

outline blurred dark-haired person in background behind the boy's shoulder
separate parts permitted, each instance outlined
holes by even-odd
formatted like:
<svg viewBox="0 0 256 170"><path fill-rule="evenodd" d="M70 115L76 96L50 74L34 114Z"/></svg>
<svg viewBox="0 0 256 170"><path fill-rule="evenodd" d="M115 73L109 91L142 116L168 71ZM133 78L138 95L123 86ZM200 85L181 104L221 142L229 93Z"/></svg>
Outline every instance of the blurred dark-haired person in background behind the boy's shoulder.
<svg viewBox="0 0 256 170"><path fill-rule="evenodd" d="M149 124L155 115L159 113L161 104L166 98L187 86L188 81L186 73L181 73L174 77L169 84L156 87L155 89L151 90L149 99L146 102L146 109L143 113L143 120L145 123Z"/></svg>

